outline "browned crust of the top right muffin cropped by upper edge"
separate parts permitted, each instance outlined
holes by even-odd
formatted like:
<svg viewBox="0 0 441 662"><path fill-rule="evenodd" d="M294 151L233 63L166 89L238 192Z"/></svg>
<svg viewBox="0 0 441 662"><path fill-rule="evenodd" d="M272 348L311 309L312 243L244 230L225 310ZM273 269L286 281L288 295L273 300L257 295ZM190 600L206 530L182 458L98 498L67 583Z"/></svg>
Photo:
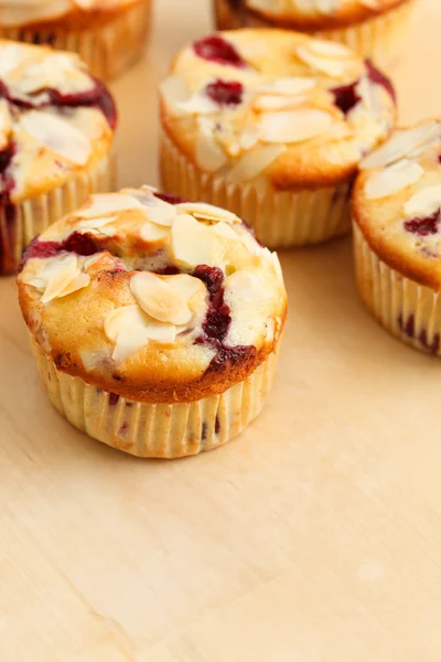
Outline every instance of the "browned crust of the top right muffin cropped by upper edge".
<svg viewBox="0 0 441 662"><path fill-rule="evenodd" d="M248 0L247 11L256 18L273 23L279 28L314 32L333 30L363 23L384 14L411 0L330 0L309 2L308 7L297 0L286 0L286 7L271 8L271 0ZM268 4L269 7L265 7ZM279 3L280 6L280 3ZM321 9L322 8L322 9Z"/></svg>

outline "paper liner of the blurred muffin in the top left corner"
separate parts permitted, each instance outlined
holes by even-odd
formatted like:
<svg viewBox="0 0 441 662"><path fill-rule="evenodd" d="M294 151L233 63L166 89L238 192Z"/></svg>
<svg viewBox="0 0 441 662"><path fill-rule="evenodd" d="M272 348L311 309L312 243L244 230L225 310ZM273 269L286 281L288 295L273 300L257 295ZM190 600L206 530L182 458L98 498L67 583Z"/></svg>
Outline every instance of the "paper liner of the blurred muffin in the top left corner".
<svg viewBox="0 0 441 662"><path fill-rule="evenodd" d="M2 39L49 44L62 51L78 53L90 73L103 79L119 76L142 55L150 26L151 0L138 0L118 12L114 20L89 30L47 30L28 28L0 29Z"/></svg>

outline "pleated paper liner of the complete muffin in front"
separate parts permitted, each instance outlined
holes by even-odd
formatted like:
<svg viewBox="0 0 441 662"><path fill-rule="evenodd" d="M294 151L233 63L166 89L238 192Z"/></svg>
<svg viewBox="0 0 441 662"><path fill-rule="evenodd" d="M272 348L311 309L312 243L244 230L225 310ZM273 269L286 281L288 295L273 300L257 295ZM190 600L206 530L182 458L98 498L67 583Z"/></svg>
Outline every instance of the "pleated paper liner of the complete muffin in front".
<svg viewBox="0 0 441 662"><path fill-rule="evenodd" d="M222 446L239 435L263 406L277 364L270 354L246 380L193 403L128 401L56 369L31 335L33 354L54 407L77 429L143 458L179 458Z"/></svg>

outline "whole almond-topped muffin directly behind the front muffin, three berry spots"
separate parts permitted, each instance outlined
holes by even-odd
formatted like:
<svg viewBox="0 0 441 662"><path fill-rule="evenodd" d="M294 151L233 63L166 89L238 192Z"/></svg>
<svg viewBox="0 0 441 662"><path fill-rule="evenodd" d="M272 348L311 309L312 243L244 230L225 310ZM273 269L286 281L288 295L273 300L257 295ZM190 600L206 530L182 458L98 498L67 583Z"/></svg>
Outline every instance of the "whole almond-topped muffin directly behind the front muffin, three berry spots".
<svg viewBox="0 0 441 662"><path fill-rule="evenodd" d="M185 47L161 86L165 190L224 206L271 247L351 226L359 160L391 130L390 82L346 46L283 30Z"/></svg>

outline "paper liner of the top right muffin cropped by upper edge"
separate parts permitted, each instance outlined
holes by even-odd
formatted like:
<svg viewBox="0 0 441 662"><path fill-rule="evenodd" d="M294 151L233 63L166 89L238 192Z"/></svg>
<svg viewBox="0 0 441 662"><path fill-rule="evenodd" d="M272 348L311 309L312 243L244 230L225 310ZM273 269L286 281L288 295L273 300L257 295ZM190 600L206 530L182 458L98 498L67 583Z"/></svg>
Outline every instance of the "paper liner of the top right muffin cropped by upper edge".
<svg viewBox="0 0 441 662"><path fill-rule="evenodd" d="M362 23L335 30L320 30L312 34L346 44L375 63L387 65L399 55L402 49L415 3L415 0L407 0L396 9ZM216 23L219 30L240 26L235 19L235 13L227 4L227 0L214 1ZM249 13L246 14L246 24L249 26L277 26L276 23L256 19Z"/></svg>

